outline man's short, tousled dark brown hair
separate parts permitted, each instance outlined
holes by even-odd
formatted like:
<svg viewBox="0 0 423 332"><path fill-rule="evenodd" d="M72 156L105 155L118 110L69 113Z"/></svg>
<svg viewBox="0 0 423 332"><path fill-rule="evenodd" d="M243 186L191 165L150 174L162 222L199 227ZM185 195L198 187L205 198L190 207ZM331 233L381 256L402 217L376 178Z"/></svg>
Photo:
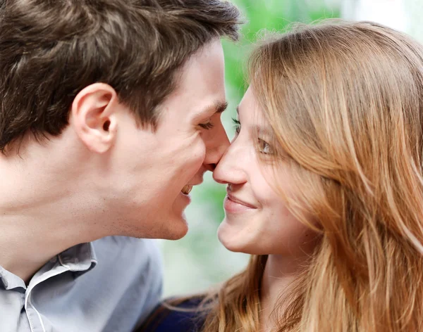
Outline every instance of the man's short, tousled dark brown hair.
<svg viewBox="0 0 423 332"><path fill-rule="evenodd" d="M60 134L95 82L154 127L178 68L216 37L238 39L239 15L220 0L0 0L0 152L27 132Z"/></svg>

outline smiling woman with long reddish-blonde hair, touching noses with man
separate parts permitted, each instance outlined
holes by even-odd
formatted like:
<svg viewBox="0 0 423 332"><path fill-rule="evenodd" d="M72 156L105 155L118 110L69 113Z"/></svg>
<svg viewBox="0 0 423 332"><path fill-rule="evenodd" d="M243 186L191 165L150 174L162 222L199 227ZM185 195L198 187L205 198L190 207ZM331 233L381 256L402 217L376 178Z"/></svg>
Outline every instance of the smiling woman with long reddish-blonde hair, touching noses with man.
<svg viewBox="0 0 423 332"><path fill-rule="evenodd" d="M324 23L267 39L249 67L214 178L219 239L250 264L145 331L423 331L423 47Z"/></svg>

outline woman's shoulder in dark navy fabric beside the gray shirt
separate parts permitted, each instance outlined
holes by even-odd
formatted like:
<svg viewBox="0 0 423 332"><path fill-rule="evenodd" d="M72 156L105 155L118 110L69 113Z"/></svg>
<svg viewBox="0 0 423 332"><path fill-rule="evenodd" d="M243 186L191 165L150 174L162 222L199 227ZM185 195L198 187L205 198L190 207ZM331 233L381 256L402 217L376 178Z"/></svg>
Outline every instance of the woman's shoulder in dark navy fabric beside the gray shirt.
<svg viewBox="0 0 423 332"><path fill-rule="evenodd" d="M204 314L202 297L166 300L159 304L137 332L200 332Z"/></svg>

